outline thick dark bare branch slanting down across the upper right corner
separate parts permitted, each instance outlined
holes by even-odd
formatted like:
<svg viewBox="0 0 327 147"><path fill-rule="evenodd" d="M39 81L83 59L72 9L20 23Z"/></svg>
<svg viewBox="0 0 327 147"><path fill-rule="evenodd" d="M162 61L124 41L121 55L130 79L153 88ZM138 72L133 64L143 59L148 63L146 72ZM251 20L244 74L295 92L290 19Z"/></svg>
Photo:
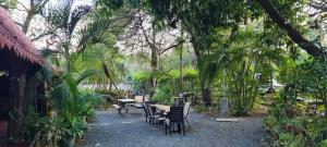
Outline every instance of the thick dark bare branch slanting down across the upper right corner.
<svg viewBox="0 0 327 147"><path fill-rule="evenodd" d="M272 7L269 0L257 0L259 5L266 11L268 16L282 29L284 29L288 36L298 44L302 49L304 49L308 54L317 58L326 56L323 49L318 48L312 41L305 39L298 29L295 29L290 23L288 23Z"/></svg>

